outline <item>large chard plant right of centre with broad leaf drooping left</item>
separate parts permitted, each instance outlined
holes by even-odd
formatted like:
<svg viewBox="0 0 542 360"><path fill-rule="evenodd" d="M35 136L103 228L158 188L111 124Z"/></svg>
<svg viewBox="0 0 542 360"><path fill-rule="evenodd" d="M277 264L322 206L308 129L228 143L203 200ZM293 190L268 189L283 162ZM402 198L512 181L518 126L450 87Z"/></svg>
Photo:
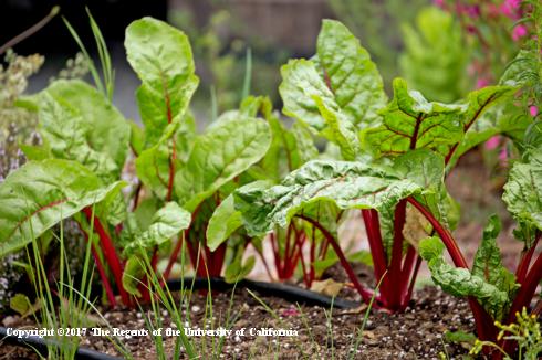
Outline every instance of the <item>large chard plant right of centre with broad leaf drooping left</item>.
<svg viewBox="0 0 542 360"><path fill-rule="evenodd" d="M404 310L421 263L419 241L434 234L445 240L458 220L458 205L444 184L446 174L462 153L490 136L478 126L483 113L510 99L517 88L488 86L444 104L428 102L396 78L388 102L368 53L344 25L330 20L323 22L316 54L290 61L281 73L284 114L335 145L338 159L309 161L277 186L238 189L234 208L252 234L288 227L292 221L315 226L369 303L374 293L359 283L336 234L311 209L358 211L375 277L382 280L374 306ZM502 119L502 129L510 121ZM466 267L457 244L445 244L456 264ZM478 318L490 321L475 298L470 305ZM481 337L490 337L480 321L477 326Z"/></svg>

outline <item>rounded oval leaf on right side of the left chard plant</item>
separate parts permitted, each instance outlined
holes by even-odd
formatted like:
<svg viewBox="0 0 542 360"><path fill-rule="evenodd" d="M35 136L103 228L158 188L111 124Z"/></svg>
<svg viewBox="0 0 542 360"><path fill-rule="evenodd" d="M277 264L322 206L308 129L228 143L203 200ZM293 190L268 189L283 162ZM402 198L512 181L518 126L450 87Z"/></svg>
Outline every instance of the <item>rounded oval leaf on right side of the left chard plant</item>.
<svg viewBox="0 0 542 360"><path fill-rule="evenodd" d="M175 176L180 203L194 211L221 186L260 161L271 144L265 121L239 115L218 120L198 137L187 163Z"/></svg>

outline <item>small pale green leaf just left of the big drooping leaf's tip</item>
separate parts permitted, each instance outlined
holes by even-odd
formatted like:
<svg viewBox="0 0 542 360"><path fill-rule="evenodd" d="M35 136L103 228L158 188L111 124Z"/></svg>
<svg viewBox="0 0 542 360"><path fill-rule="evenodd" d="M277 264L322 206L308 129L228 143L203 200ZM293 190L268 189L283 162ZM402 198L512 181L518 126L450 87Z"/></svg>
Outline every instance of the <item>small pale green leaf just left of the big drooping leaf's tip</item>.
<svg viewBox="0 0 542 360"><path fill-rule="evenodd" d="M242 226L242 216L234 208L233 195L226 198L212 213L207 226L207 246L211 252L239 227Z"/></svg>

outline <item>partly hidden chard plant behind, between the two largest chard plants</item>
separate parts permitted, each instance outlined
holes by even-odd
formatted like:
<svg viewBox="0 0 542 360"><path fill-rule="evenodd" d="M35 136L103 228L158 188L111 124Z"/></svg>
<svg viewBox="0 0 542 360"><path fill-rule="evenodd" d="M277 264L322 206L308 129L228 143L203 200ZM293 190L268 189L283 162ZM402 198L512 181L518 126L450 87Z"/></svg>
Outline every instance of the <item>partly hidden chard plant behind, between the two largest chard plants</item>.
<svg viewBox="0 0 542 360"><path fill-rule="evenodd" d="M239 189L258 187L259 184L279 183L281 179L300 168L306 161L319 156L314 139L308 128L293 124L284 126L272 105L265 97L248 97L241 105L241 112L252 116L260 114L267 119L271 130L271 144L264 157L253 165L248 174L242 177ZM250 241L263 261L270 278L274 278L265 256L263 255L264 234L248 231L243 225L242 215L234 208L233 191L220 203L212 214L207 229L207 239L211 251L216 251L226 241L231 242L236 236ZM308 210L309 211L309 210ZM333 205L316 205L310 210L315 219L330 225L330 231L336 232L338 209ZM272 252L277 279L285 282L301 273L304 284L311 287L323 271L334 263L336 257L327 240L316 231L316 227L301 220L291 221L286 229L274 226L267 237ZM229 276L227 276L228 279Z"/></svg>

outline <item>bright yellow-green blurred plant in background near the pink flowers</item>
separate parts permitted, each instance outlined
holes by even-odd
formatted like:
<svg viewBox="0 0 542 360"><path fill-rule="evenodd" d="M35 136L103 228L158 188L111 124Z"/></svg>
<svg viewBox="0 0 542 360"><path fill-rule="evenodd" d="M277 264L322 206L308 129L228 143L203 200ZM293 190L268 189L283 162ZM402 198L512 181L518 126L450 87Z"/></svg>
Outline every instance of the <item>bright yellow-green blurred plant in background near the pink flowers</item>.
<svg viewBox="0 0 542 360"><path fill-rule="evenodd" d="M418 13L416 27L403 24L400 73L429 99L457 100L467 89L463 75L469 56L459 24L449 13L431 7Z"/></svg>

